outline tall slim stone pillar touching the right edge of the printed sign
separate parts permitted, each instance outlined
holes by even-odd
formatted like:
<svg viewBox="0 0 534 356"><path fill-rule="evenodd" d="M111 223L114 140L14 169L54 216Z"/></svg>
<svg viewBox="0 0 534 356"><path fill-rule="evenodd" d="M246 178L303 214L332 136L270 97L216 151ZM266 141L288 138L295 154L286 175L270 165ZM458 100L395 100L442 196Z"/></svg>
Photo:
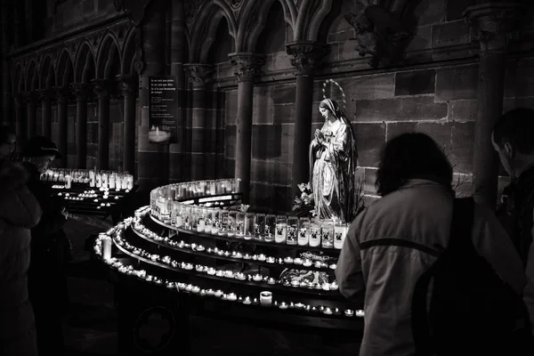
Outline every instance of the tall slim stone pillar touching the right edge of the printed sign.
<svg viewBox="0 0 534 356"><path fill-rule="evenodd" d="M176 89L178 90L177 143L171 143L169 147L169 180L171 182L182 181L185 178L184 163L186 133L186 108L187 87L183 62L186 61L185 45L185 9L183 1L171 2L171 76L176 77Z"/></svg>

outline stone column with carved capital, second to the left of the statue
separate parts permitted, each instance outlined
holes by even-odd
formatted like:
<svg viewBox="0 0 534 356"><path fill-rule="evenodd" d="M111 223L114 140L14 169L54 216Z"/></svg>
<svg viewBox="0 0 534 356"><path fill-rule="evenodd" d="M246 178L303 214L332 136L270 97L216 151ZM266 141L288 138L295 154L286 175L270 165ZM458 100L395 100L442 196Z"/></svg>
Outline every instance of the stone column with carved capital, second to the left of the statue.
<svg viewBox="0 0 534 356"><path fill-rule="evenodd" d="M238 129L236 134L235 178L241 179L243 200L247 204L250 195L250 163L252 158L252 102L254 82L260 76L265 63L263 55L256 53L231 53L231 64L238 77Z"/></svg>

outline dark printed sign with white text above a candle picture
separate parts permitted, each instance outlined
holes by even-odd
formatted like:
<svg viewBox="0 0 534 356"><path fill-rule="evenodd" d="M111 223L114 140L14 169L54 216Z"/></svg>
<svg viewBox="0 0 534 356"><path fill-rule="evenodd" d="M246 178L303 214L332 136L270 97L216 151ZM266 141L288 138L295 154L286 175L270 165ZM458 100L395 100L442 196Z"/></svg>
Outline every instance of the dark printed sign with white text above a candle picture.
<svg viewBox="0 0 534 356"><path fill-rule="evenodd" d="M149 77L149 142L168 143L176 134L176 78Z"/></svg>

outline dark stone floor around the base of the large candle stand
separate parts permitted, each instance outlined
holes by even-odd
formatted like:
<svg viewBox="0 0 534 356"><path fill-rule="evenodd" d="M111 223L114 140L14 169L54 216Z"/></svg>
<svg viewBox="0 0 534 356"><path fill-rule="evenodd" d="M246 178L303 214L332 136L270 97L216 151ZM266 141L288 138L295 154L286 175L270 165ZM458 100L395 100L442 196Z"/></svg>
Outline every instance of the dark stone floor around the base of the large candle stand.
<svg viewBox="0 0 534 356"><path fill-rule="evenodd" d="M66 232L74 247L74 261L69 267L69 317L65 336L67 355L100 356L117 354L117 311L113 288L96 275L85 238L105 230L87 222L69 221ZM309 336L298 330L278 331L252 328L246 324L206 318L191 318L191 354L209 355L352 355L359 344L334 344L327 337ZM356 336L355 336L356 337Z"/></svg>

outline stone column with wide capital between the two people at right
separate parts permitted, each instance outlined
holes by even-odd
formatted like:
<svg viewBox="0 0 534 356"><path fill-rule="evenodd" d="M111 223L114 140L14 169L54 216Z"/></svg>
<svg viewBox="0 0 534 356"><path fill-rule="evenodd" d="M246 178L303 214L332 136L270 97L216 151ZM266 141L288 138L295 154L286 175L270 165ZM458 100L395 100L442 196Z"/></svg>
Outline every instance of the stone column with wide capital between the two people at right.
<svg viewBox="0 0 534 356"><path fill-rule="evenodd" d="M465 10L474 40L481 45L474 130L473 197L494 209L497 204L498 154L491 144L491 129L503 111L506 44L511 38L517 4L481 4Z"/></svg>

